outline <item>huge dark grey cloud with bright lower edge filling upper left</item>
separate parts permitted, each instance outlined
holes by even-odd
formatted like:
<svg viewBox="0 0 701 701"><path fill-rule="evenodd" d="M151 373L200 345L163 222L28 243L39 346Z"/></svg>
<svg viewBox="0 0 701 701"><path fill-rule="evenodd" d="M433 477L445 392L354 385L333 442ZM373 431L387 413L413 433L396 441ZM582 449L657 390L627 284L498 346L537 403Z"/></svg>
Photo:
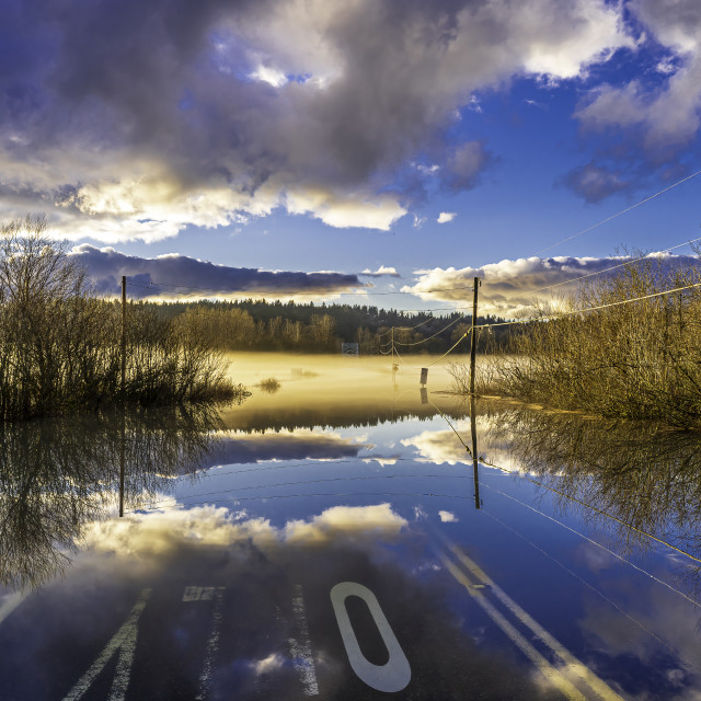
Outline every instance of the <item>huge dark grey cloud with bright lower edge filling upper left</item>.
<svg viewBox="0 0 701 701"><path fill-rule="evenodd" d="M425 196L403 182L411 162L439 165L449 189L478 183L489 153L452 129L474 90L579 74L629 43L618 12L587 0L8 0L2 180L39 193L77 238L163 238L276 207L388 229Z"/></svg>

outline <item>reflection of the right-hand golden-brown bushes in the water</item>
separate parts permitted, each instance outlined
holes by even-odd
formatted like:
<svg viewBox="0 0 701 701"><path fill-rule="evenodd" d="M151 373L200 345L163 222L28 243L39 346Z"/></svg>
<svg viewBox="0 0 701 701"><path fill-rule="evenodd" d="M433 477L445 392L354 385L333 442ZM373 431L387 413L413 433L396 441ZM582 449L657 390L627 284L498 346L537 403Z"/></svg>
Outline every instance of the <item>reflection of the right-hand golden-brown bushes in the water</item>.
<svg viewBox="0 0 701 701"><path fill-rule="evenodd" d="M561 506L613 525L618 539L647 545L645 531L677 547L701 549L701 437L637 422L585 420L527 410L495 416L492 438L507 441ZM619 519L608 519L600 509Z"/></svg>

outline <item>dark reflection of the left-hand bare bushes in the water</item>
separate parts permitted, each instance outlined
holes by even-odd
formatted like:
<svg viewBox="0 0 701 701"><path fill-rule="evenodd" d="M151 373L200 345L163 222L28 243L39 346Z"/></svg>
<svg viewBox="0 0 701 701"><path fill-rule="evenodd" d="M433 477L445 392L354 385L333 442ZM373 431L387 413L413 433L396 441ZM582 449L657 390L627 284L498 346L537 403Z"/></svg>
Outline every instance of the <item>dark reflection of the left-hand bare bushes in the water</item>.
<svg viewBox="0 0 701 701"><path fill-rule="evenodd" d="M82 525L116 503L123 445L134 508L194 471L218 428L206 406L0 424L0 583L36 586L67 566Z"/></svg>

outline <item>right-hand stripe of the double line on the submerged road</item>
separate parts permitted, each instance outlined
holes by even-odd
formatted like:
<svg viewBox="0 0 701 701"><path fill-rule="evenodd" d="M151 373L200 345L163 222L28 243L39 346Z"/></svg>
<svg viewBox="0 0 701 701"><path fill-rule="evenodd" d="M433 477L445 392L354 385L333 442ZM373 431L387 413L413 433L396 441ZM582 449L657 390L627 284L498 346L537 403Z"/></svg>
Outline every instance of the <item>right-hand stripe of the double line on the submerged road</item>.
<svg viewBox="0 0 701 701"><path fill-rule="evenodd" d="M553 637L538 621L536 621L527 611L525 611L512 597L509 597L502 587L495 584L483 570L473 562L468 555L458 548L455 543L448 541L448 548L452 554L460 561L460 563L470 572L476 579L476 586L489 586L492 594L528 629L531 630L533 635L544 643L562 662L565 664L568 673L577 676L584 682L586 682L591 690L605 701L623 701L613 689L605 683L599 677L597 677L586 665L581 663L562 643ZM455 573L451 570L451 574ZM467 578L466 578L467 579ZM468 581L469 582L469 581ZM461 582L461 584L464 584ZM469 584L471 584L469 582ZM468 587L469 585L466 585ZM474 584L471 584L472 588L475 588Z"/></svg>

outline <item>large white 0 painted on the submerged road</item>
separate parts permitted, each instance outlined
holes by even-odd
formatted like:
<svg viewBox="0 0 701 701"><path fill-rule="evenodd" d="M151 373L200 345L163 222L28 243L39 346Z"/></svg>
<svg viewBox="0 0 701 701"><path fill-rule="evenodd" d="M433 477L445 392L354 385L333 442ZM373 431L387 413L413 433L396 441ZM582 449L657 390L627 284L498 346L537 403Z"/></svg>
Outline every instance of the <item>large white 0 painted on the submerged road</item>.
<svg viewBox="0 0 701 701"><path fill-rule="evenodd" d="M382 636L382 642L390 654L384 665L374 665L363 654L358 639L350 625L345 600L349 596L361 598L370 610L375 624ZM331 602L336 614L341 637L348 655L353 671L365 683L378 691L401 691L412 679L412 670L394 632L392 631L377 597L370 589L356 582L341 582L331 589Z"/></svg>

